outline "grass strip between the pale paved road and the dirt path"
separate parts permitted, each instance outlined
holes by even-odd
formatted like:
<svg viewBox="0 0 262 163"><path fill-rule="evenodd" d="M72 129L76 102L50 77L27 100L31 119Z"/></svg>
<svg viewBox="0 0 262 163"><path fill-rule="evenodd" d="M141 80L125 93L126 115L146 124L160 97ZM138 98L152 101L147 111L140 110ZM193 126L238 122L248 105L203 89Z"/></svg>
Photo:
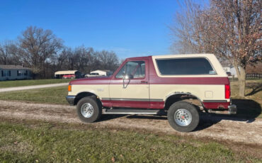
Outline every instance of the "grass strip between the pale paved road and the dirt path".
<svg viewBox="0 0 262 163"><path fill-rule="evenodd" d="M28 101L32 103L68 104L67 86L0 93L1 100Z"/></svg>

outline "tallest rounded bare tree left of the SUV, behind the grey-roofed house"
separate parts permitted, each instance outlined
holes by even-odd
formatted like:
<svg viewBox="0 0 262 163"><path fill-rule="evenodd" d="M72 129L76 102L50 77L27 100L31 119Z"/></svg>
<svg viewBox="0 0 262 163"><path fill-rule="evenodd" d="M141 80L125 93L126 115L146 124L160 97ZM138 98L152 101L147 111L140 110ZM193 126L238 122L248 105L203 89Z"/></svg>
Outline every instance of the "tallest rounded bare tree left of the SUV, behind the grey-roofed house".
<svg viewBox="0 0 262 163"><path fill-rule="evenodd" d="M51 30L30 26L18 38L23 52L23 61L33 68L33 72L45 77L45 64L62 48L62 40Z"/></svg>

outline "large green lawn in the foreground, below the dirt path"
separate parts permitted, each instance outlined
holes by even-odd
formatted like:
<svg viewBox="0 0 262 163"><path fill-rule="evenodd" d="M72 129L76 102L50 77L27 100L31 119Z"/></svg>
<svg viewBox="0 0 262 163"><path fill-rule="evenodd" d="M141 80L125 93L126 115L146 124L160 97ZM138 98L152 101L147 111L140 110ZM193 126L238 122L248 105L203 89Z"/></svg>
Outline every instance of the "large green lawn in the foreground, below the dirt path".
<svg viewBox="0 0 262 163"><path fill-rule="evenodd" d="M0 162L259 162L219 142L185 136L35 121L1 122L0 130Z"/></svg>

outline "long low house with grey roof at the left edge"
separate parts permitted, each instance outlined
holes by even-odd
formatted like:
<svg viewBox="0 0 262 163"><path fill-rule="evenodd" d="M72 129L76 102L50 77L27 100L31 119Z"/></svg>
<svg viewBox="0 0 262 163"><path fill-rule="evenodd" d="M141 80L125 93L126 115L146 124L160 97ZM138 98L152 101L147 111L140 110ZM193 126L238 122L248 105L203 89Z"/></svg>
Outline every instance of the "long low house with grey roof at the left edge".
<svg viewBox="0 0 262 163"><path fill-rule="evenodd" d="M30 68L13 64L0 64L0 81L32 79Z"/></svg>

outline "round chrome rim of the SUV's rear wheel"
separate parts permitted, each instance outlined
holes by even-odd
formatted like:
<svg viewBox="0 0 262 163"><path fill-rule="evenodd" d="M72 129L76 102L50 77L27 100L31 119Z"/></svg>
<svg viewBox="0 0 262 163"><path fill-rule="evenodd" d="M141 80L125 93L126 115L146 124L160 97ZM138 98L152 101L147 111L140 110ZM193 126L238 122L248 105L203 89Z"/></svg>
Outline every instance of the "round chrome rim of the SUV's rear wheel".
<svg viewBox="0 0 262 163"><path fill-rule="evenodd" d="M174 119L176 121L176 124L181 125L181 126L186 126L191 123L192 115L188 110L184 108L180 108L174 114Z"/></svg>

